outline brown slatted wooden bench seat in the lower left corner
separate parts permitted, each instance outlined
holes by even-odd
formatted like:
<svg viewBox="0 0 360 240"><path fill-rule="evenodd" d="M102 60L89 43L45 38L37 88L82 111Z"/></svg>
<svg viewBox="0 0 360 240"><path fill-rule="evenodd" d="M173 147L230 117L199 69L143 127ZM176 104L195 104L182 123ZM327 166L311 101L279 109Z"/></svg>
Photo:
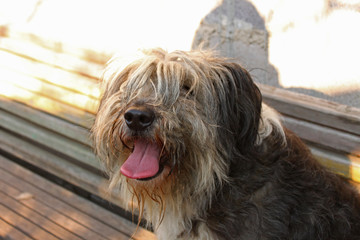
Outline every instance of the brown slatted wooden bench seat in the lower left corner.
<svg viewBox="0 0 360 240"><path fill-rule="evenodd" d="M136 225L0 156L0 239L131 239ZM142 228L133 239L155 239Z"/></svg>

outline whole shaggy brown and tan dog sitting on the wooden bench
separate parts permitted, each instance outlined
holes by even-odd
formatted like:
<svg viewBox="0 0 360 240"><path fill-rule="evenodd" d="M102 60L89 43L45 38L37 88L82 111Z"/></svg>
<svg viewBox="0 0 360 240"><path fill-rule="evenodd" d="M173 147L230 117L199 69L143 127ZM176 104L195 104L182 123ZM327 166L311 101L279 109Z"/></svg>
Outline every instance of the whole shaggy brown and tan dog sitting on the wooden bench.
<svg viewBox="0 0 360 240"><path fill-rule="evenodd" d="M360 239L356 190L282 127L239 65L155 49L109 66L96 152L160 240Z"/></svg>

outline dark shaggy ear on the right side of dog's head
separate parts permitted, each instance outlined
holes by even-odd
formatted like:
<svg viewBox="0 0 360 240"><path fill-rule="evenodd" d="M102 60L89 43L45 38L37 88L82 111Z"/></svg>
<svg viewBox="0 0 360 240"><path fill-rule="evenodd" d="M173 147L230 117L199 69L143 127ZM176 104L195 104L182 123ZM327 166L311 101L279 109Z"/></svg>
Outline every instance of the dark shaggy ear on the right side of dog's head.
<svg viewBox="0 0 360 240"><path fill-rule="evenodd" d="M258 135L262 96L250 74L239 64L224 63L223 67L227 72L223 79L225 95L220 100L220 124L228 131L221 134L225 134L225 142L235 141L238 150L244 152L254 146Z"/></svg>

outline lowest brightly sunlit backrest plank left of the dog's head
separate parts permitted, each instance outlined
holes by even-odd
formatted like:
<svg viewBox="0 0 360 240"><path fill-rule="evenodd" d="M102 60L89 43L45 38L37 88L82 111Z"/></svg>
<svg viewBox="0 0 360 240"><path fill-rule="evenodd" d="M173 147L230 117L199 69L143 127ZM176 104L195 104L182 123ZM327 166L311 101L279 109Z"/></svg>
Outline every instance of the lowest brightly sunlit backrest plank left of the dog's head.
<svg viewBox="0 0 360 240"><path fill-rule="evenodd" d="M4 68L0 68L0 75L3 76L0 84L7 86L4 92L7 89L25 89L32 93L33 98L39 95L89 113L96 112L98 101L94 98Z"/></svg>

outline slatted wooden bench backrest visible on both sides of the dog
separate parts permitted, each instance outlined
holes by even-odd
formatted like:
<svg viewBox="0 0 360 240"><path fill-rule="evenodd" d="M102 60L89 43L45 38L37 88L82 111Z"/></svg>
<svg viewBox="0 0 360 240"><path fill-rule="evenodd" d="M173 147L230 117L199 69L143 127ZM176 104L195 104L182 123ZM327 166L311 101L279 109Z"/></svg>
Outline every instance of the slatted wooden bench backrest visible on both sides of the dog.
<svg viewBox="0 0 360 240"><path fill-rule="evenodd" d="M13 29L0 33L0 151L119 203L116 194L107 194L89 140L98 78L110 56ZM264 101L283 114L285 125L319 161L360 182L359 109L260 88Z"/></svg>

